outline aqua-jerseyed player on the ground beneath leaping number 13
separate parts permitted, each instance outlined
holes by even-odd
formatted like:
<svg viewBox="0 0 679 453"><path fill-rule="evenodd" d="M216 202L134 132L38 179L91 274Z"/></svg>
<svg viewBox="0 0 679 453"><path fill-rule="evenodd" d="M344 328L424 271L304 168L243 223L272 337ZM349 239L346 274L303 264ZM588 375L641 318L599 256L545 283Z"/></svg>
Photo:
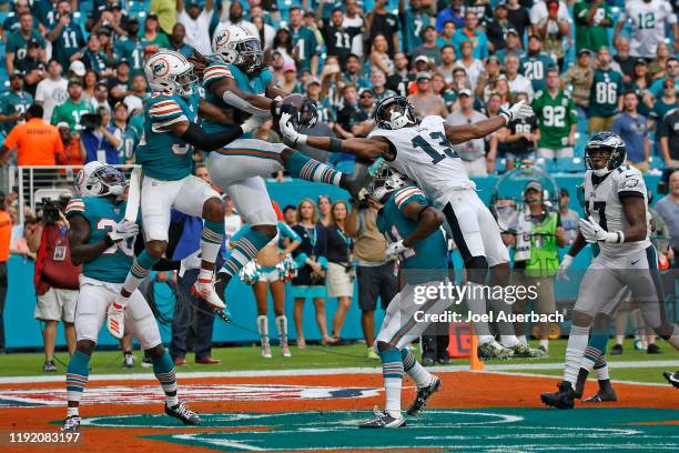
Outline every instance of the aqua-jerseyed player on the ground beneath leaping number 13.
<svg viewBox="0 0 679 453"><path fill-rule="evenodd" d="M426 371L406 346L429 325L423 318L425 313L442 313L453 303L445 298L423 303L416 298L418 288L447 281L448 246L439 229L445 215L413 182L392 169L375 178L368 187L368 197L383 204L377 214L377 228L392 242L387 256L399 256L404 285L389 302L373 346L382 359L386 407L375 411L375 417L359 427L398 427L405 425L401 412L404 371L417 384L417 395L407 410L408 415L419 412L440 387L440 379Z"/></svg>

